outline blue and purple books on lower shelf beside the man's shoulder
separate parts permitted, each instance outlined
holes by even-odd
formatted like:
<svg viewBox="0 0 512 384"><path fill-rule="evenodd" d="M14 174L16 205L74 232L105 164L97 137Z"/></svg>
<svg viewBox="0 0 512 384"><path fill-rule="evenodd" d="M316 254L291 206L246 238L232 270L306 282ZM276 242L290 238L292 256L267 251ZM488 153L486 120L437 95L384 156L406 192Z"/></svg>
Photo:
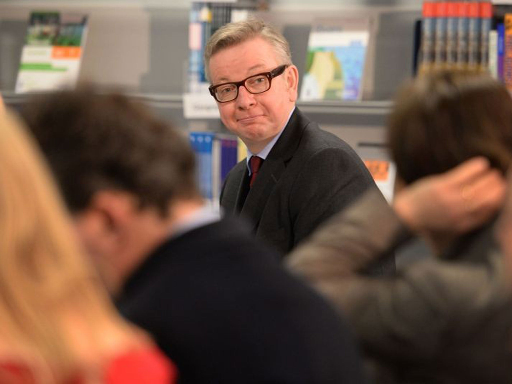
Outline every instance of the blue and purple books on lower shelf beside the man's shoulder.
<svg viewBox="0 0 512 384"><path fill-rule="evenodd" d="M228 172L247 156L245 145L236 136L214 132L190 132L188 137L196 154L201 195L218 202Z"/></svg>

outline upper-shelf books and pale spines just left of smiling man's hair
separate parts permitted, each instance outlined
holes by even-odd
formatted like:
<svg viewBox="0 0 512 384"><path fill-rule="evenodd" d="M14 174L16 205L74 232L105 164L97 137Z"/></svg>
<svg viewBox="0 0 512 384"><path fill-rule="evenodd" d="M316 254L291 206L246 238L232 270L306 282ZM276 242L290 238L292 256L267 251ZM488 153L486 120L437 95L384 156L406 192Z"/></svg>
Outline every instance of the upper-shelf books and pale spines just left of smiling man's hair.
<svg viewBox="0 0 512 384"><path fill-rule="evenodd" d="M206 42L224 24L246 19L248 10L234 3L193 2L188 25L188 78L190 91L206 82L203 54Z"/></svg>

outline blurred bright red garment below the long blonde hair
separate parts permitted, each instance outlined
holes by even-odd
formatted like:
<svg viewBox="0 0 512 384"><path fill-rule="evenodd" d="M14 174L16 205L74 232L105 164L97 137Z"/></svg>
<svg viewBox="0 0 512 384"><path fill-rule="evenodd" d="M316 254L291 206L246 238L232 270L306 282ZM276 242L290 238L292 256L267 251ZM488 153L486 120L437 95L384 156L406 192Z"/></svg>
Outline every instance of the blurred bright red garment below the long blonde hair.
<svg viewBox="0 0 512 384"><path fill-rule="evenodd" d="M174 384L178 371L174 364L156 348L136 349L114 357L106 366L104 384ZM33 372L22 364L0 363L2 384L35 384ZM80 374L67 381L83 384Z"/></svg>

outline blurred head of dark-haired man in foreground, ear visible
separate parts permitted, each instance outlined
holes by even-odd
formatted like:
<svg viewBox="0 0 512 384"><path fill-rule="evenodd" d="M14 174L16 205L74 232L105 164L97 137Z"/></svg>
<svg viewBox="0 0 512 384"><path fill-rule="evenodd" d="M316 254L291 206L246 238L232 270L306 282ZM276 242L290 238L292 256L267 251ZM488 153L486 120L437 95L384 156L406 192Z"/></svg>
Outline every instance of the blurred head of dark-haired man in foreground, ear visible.
<svg viewBox="0 0 512 384"><path fill-rule="evenodd" d="M187 140L140 103L83 88L42 96L25 117L112 291L202 204Z"/></svg>

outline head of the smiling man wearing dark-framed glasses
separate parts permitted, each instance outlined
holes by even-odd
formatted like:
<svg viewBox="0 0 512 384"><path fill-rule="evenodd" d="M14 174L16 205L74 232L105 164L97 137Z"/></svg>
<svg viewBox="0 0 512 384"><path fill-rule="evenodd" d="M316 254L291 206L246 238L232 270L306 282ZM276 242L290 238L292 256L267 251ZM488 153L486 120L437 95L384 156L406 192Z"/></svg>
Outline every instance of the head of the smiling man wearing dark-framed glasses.
<svg viewBox="0 0 512 384"><path fill-rule="evenodd" d="M251 18L219 28L204 56L222 122L259 153L284 128L297 99L298 71L288 42Z"/></svg>

